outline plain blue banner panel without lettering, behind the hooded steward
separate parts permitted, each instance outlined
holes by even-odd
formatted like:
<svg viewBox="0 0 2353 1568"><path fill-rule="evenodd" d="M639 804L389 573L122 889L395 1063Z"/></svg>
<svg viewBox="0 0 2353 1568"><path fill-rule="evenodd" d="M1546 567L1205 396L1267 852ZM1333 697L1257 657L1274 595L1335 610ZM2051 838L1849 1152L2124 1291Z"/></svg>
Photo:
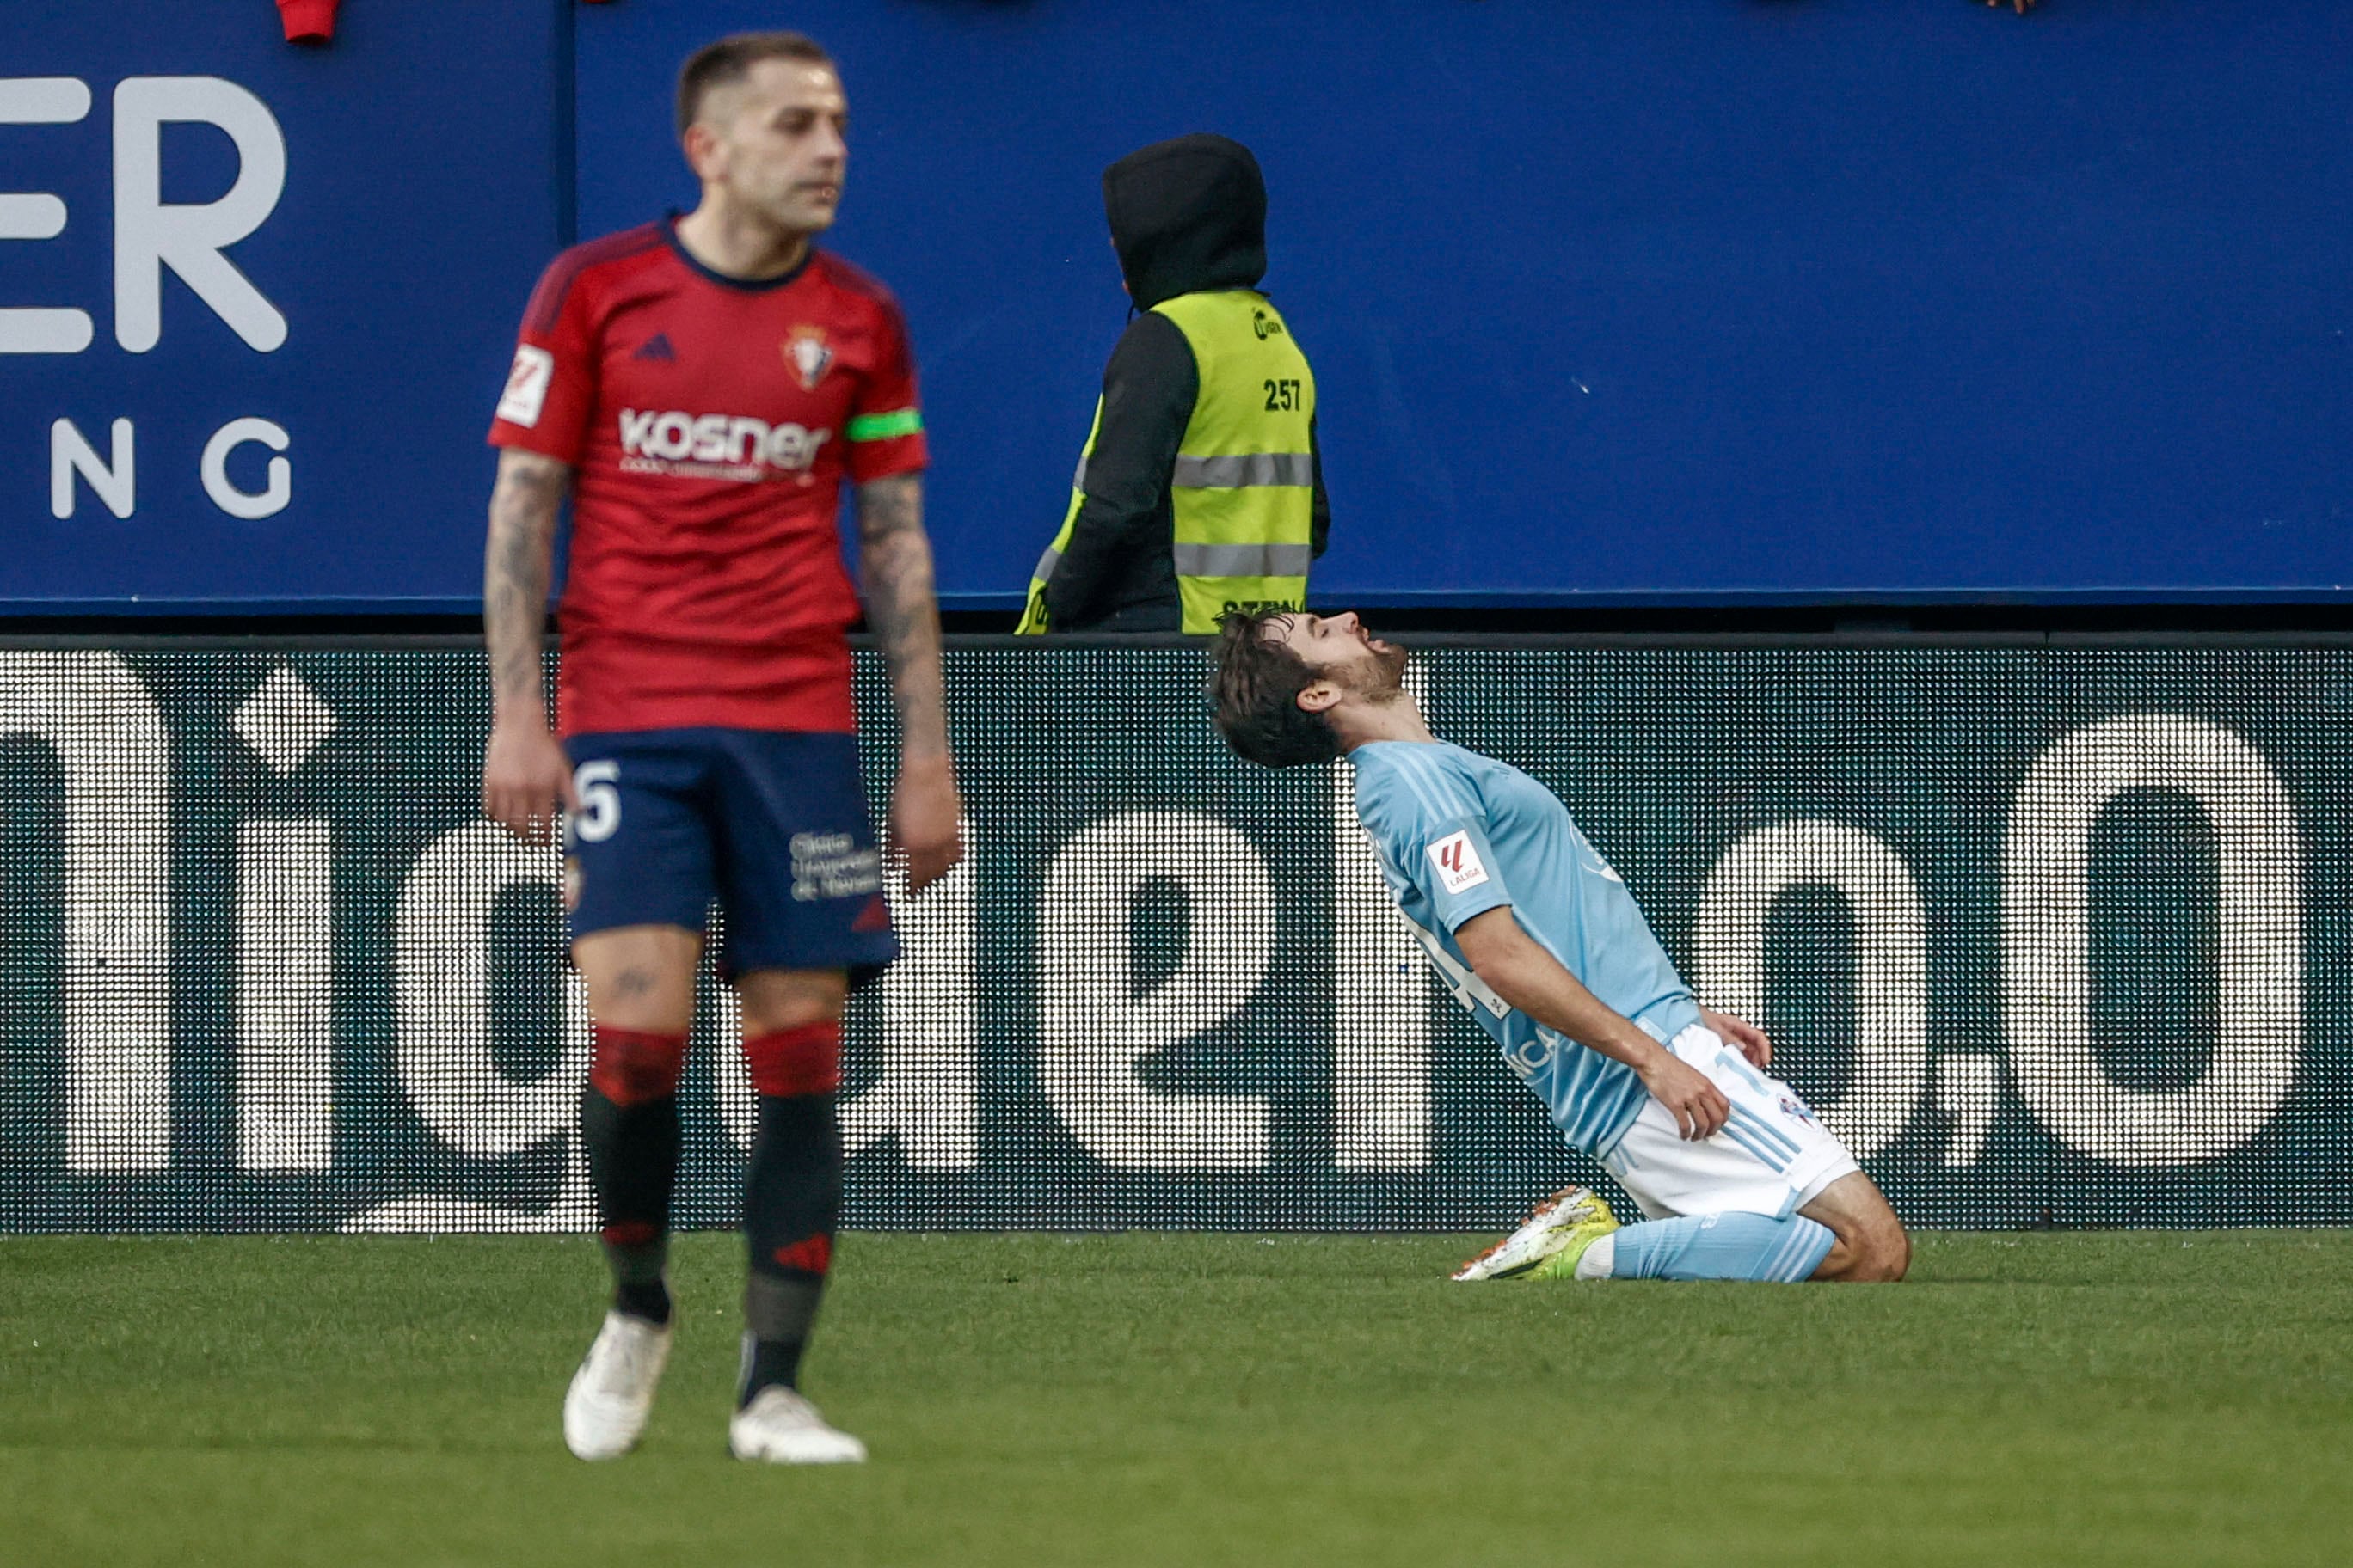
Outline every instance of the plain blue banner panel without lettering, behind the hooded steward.
<svg viewBox="0 0 2353 1568"><path fill-rule="evenodd" d="M581 233L685 54L814 33L908 308L941 585L1014 604L1127 317L1101 169L1249 143L1355 602L2353 585L2337 0L755 0L579 14Z"/></svg>

